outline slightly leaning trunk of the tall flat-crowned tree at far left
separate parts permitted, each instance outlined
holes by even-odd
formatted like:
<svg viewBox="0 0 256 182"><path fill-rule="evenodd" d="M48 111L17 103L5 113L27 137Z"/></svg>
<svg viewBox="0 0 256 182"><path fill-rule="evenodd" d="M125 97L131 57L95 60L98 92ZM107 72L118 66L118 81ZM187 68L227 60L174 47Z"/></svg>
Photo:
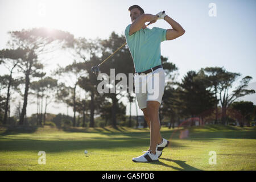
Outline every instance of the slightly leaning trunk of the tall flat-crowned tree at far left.
<svg viewBox="0 0 256 182"><path fill-rule="evenodd" d="M31 71L31 65L30 65L30 68L28 69L28 71L26 72L24 101L23 101L22 113L20 114L20 118L19 118L19 125L23 125L24 117L26 115L27 96L28 96L28 89L30 86L30 71Z"/></svg>

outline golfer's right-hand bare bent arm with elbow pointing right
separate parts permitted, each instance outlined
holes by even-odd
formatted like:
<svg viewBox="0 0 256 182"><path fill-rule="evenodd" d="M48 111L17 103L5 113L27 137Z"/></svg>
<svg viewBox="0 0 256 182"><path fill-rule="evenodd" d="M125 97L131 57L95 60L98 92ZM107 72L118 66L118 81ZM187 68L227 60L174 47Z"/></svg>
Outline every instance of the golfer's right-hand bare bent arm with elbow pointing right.
<svg viewBox="0 0 256 182"><path fill-rule="evenodd" d="M166 20L166 22L168 22L173 28L167 29L166 40L176 39L185 33L185 30L180 26L180 24L175 22L175 20L170 18L168 15L164 16L164 20Z"/></svg>

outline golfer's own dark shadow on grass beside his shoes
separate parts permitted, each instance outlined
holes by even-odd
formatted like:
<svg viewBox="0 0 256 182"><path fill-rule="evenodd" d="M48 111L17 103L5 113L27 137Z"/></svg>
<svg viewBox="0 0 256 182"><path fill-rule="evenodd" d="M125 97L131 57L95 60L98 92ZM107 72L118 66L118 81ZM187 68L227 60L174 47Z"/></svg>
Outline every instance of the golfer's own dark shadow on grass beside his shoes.
<svg viewBox="0 0 256 182"><path fill-rule="evenodd" d="M158 165L161 165L161 166L164 166L164 167L170 167L172 169L179 170L179 171L202 171L201 169L197 169L197 168L195 168L193 166L189 166L183 160L172 160L172 159L166 159L166 158L160 158L160 159L167 160L168 162L174 162L174 163L178 164L180 168L179 167L170 166L170 165L165 164L165 163L160 162L160 161L156 162L155 164L158 164Z"/></svg>

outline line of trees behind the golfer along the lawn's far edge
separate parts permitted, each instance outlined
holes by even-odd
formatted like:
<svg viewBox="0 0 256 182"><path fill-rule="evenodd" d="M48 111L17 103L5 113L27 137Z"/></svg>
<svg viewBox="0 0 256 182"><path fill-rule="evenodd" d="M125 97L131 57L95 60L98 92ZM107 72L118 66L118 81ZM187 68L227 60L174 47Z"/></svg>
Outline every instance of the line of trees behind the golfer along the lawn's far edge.
<svg viewBox="0 0 256 182"><path fill-rule="evenodd" d="M14 114L19 125L26 124L30 100L36 104L38 126L46 124L47 106L55 102L67 106L67 110L72 107L72 126L77 126L77 121L80 122L77 114L78 117L81 115L82 127L85 127L86 118L89 118L89 127L94 127L96 116L104 119L106 125L110 122L116 127L118 121L126 119L126 107L129 106L128 126L131 127L131 104L135 102L135 94L99 94L99 81L90 71L92 66L100 64L122 46L126 41L125 36L112 32L108 39L92 40L75 38L69 32L49 31L47 28L10 31L9 35L7 48L0 50L0 65L8 71L8 74L0 76L0 122L3 125L7 124L10 113L11 94L18 93L22 100L15 106ZM71 64L59 65L49 73L46 55L59 50L70 53ZM243 123L255 119L255 105L252 102L236 102L240 97L255 93L255 90L246 89L252 77L241 78L241 73L228 72L223 67L207 67L198 72L188 71L179 82L176 79L176 65L167 57L161 56L161 59L166 73L166 88L159 111L161 121L169 121L171 126L182 118L200 118L203 123L210 118L215 124L225 125L233 118L243 126ZM115 74L125 73L128 78L129 73L134 73L128 47L115 53L100 69L108 75L110 69L115 69ZM241 78L240 84L234 88L238 78ZM116 84L117 81L110 82L108 89ZM84 96L77 94L77 90L83 90ZM127 105L121 102L121 98L125 97ZM190 125L195 125L193 119Z"/></svg>

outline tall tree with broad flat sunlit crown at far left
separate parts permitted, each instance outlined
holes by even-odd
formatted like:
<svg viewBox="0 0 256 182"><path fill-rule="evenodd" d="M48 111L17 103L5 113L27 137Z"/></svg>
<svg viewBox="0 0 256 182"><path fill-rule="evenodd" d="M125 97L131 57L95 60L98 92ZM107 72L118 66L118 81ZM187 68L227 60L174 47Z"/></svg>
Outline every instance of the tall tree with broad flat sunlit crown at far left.
<svg viewBox="0 0 256 182"><path fill-rule="evenodd" d="M24 55L22 61L18 65L21 72L24 74L25 89L22 112L20 114L19 125L23 125L24 116L26 115L28 90L30 88L31 76L36 75L38 71L43 69L43 64L40 63L39 55L54 49L56 43L69 44L72 42L73 35L68 32L59 30L49 31L47 28L33 28L31 30L11 31L11 40L9 44L13 48L22 48Z"/></svg>

